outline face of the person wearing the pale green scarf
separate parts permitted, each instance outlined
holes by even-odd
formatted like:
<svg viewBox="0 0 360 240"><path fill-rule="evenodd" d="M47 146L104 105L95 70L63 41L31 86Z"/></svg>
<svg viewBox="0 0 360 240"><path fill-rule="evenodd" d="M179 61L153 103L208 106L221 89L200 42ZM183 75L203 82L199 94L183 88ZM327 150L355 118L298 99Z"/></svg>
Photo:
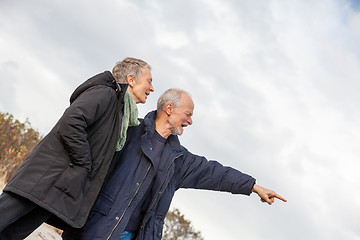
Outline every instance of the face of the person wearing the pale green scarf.
<svg viewBox="0 0 360 240"><path fill-rule="evenodd" d="M138 78L133 77L132 82L129 84L131 96L136 103L145 103L147 96L154 91L151 72L148 68L145 68L143 74Z"/></svg>

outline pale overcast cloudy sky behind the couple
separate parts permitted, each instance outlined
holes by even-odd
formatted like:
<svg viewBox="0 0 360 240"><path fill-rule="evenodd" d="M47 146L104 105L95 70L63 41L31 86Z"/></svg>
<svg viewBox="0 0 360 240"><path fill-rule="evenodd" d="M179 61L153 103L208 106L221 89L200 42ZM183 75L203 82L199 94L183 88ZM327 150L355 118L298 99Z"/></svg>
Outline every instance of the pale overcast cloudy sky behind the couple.
<svg viewBox="0 0 360 240"><path fill-rule="evenodd" d="M206 240L360 239L359 0L0 1L0 111L43 135L127 56L189 91L180 140L288 199L180 190Z"/></svg>

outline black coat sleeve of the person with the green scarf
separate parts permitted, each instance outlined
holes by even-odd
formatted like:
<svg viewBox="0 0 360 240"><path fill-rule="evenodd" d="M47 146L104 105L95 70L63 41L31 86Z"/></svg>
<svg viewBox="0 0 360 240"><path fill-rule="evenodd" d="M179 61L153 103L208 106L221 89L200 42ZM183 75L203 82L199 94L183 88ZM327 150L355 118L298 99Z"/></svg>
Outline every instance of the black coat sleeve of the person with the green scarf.
<svg viewBox="0 0 360 240"><path fill-rule="evenodd" d="M70 160L88 171L92 157L86 129L103 115L112 101L116 101L112 88L103 85L89 88L75 99L59 121L58 134Z"/></svg>

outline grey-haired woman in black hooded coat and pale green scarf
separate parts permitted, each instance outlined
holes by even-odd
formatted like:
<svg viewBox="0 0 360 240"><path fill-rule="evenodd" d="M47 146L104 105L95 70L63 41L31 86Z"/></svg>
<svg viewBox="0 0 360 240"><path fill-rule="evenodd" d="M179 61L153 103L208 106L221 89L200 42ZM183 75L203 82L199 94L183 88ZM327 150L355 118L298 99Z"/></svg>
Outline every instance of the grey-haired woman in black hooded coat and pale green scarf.
<svg viewBox="0 0 360 240"><path fill-rule="evenodd" d="M139 124L136 103L154 91L150 71L143 60L125 58L74 91L0 196L0 239L23 239L50 218L85 224L128 126Z"/></svg>

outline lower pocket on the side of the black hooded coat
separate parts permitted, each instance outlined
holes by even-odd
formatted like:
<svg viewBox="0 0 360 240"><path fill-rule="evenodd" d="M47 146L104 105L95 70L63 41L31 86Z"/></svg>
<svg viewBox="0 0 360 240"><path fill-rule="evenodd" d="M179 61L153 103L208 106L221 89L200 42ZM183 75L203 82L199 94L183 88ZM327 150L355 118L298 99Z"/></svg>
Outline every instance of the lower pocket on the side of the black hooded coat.
<svg viewBox="0 0 360 240"><path fill-rule="evenodd" d="M55 187L73 199L81 196L88 171L86 168L69 165L55 183Z"/></svg>

